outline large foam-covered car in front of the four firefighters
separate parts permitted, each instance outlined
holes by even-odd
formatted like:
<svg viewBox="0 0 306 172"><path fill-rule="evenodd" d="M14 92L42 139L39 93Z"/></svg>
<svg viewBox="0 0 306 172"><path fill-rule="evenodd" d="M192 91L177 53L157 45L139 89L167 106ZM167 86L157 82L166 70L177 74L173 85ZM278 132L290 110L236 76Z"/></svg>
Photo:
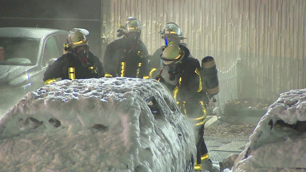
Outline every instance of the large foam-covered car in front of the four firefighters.
<svg viewBox="0 0 306 172"><path fill-rule="evenodd" d="M150 97L161 113L151 113L145 101ZM0 119L1 170L184 171L192 166L195 140L173 104L156 80L117 77L43 86Z"/></svg>

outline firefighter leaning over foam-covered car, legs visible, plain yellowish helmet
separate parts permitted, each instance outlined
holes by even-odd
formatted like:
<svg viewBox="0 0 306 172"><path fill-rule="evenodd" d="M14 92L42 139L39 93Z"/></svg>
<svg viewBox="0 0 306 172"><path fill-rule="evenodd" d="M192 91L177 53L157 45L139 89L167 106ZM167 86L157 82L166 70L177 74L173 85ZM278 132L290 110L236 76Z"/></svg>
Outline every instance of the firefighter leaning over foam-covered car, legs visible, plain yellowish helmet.
<svg viewBox="0 0 306 172"><path fill-rule="evenodd" d="M203 139L206 103L209 102L209 99L202 88L199 61L190 57L189 50L185 46L175 44L167 46L160 57L168 72L169 80L174 81L175 84L166 82L160 76L155 79L169 88L177 100L177 106L181 112L194 125L197 148L194 170L219 171L217 167L213 166Z"/></svg>

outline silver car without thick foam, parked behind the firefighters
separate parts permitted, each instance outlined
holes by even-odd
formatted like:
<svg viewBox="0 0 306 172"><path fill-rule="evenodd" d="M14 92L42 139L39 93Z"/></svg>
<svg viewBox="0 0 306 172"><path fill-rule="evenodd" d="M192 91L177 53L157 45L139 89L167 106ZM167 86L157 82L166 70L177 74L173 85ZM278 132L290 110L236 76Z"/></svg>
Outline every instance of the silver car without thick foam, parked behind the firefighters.
<svg viewBox="0 0 306 172"><path fill-rule="evenodd" d="M50 59L63 54L67 31L0 28L0 116L27 92L43 86Z"/></svg>

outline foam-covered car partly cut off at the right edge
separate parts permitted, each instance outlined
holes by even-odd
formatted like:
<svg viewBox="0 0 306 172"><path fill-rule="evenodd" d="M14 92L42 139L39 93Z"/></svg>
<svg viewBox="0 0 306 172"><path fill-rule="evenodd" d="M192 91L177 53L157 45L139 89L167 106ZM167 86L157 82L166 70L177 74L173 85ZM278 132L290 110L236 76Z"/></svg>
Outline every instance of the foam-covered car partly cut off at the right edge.
<svg viewBox="0 0 306 172"><path fill-rule="evenodd" d="M234 172L306 171L306 89L282 93L261 118Z"/></svg>

